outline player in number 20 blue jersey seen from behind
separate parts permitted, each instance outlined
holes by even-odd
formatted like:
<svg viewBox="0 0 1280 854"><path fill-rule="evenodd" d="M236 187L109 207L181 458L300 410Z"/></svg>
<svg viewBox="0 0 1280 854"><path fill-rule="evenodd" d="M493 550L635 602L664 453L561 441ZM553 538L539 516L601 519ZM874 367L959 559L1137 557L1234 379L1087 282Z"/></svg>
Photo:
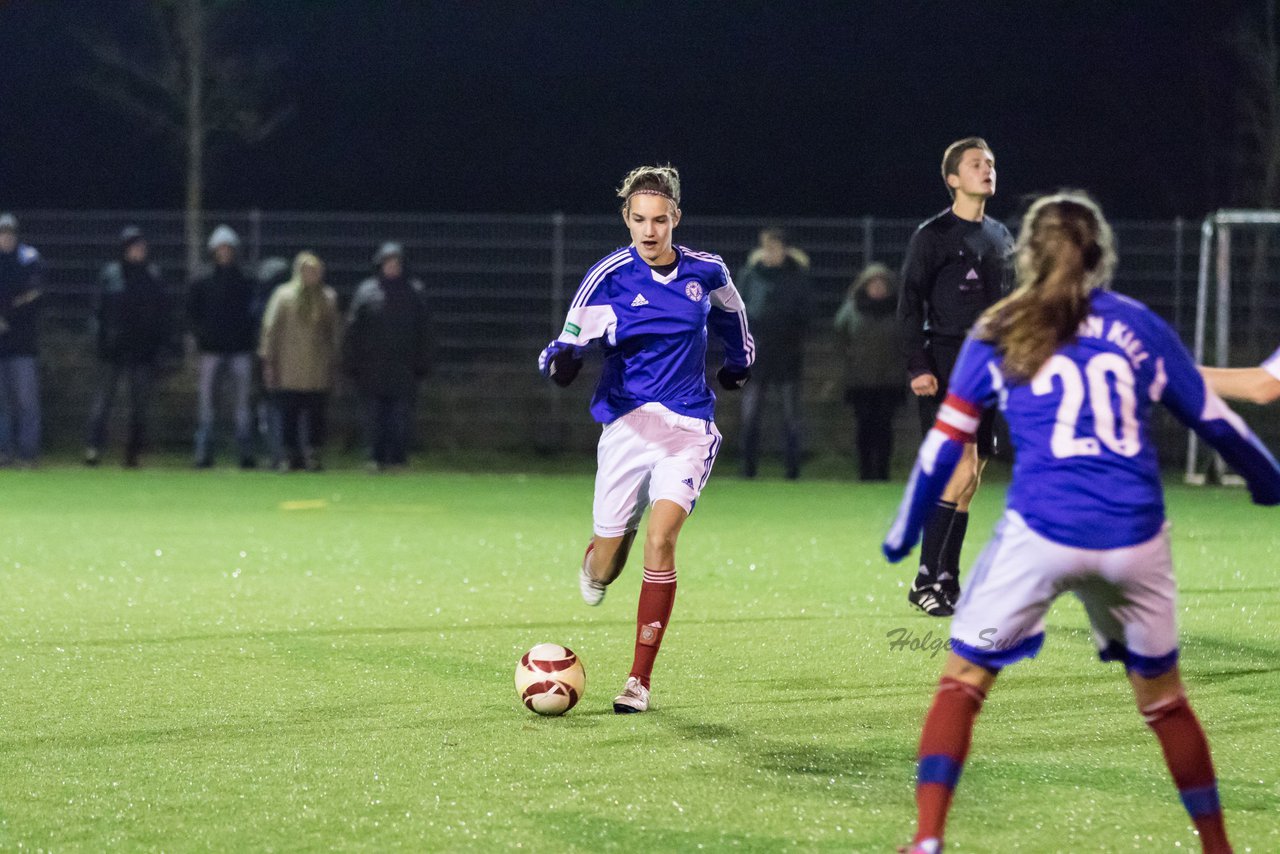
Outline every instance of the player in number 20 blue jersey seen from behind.
<svg viewBox="0 0 1280 854"><path fill-rule="evenodd" d="M965 341L884 540L906 557L973 440L1000 406L1016 448L1007 508L951 622L951 653L924 721L911 851L942 848L974 718L1006 665L1036 656L1044 613L1070 590L1103 661L1124 663L1206 851L1230 850L1208 743L1178 672L1174 576L1148 420L1164 403L1249 484L1280 503L1280 467L1208 391L1172 330L1110 293L1111 229L1085 195L1032 205L1016 246L1018 289Z"/></svg>

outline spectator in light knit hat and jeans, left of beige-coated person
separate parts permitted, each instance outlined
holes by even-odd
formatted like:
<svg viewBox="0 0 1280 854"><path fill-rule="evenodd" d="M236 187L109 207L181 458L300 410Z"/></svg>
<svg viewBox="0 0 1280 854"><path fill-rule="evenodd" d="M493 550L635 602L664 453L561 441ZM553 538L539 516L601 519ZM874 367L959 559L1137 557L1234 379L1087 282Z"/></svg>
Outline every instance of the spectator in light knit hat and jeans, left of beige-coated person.
<svg viewBox="0 0 1280 854"><path fill-rule="evenodd" d="M196 426L196 467L214 465L214 398L219 376L230 375L236 399L236 444L241 469L253 469L253 352L257 350L257 288L239 268L239 237L219 225L209 237L214 265L191 283L187 316L200 351L200 410Z"/></svg>

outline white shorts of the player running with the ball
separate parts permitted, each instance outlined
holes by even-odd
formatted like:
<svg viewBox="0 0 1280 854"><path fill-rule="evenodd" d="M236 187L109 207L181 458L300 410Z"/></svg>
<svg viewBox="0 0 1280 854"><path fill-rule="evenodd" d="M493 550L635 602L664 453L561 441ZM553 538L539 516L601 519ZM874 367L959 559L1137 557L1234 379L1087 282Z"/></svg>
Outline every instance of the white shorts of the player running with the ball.
<svg viewBox="0 0 1280 854"><path fill-rule="evenodd" d="M692 512L712 474L721 434L713 421L645 403L604 425L596 447L596 536L622 536L666 498Z"/></svg>

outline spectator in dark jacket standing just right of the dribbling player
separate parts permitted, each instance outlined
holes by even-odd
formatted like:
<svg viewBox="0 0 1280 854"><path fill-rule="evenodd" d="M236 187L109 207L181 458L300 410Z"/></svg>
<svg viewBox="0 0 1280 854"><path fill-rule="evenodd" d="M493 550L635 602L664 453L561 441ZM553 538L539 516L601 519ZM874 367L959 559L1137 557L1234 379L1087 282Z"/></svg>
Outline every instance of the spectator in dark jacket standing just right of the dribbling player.
<svg viewBox="0 0 1280 854"><path fill-rule="evenodd" d="M755 476L760 453L762 403L769 389L782 402L783 461L790 479L800 476L800 380L808 338L809 256L787 246L780 228L760 232L760 246L739 274L737 288L751 319L755 365L742 388L742 474Z"/></svg>

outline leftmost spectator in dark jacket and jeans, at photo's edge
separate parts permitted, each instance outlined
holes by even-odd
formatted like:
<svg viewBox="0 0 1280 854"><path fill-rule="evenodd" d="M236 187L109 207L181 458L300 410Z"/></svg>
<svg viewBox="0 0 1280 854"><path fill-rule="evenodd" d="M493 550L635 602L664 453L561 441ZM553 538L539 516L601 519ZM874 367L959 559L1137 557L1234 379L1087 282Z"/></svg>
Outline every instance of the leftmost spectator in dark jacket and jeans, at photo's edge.
<svg viewBox="0 0 1280 854"><path fill-rule="evenodd" d="M40 252L0 214L0 465L35 466L40 455L41 289Z"/></svg>

